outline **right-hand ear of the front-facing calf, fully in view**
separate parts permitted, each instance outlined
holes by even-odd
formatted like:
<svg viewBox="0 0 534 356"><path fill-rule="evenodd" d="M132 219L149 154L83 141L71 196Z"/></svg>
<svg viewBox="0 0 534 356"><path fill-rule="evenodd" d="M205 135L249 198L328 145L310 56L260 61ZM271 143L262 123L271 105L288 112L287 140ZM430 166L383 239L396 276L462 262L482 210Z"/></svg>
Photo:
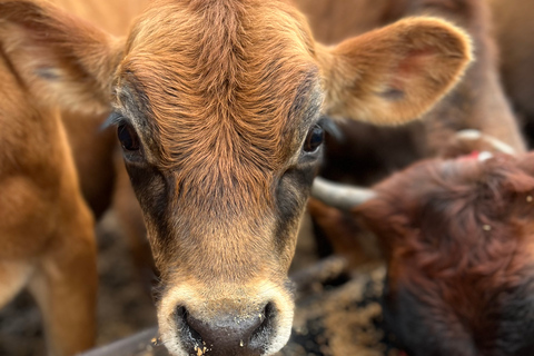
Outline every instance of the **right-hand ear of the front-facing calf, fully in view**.
<svg viewBox="0 0 534 356"><path fill-rule="evenodd" d="M317 48L325 113L377 125L419 118L459 80L472 60L469 38L434 18L408 18Z"/></svg>

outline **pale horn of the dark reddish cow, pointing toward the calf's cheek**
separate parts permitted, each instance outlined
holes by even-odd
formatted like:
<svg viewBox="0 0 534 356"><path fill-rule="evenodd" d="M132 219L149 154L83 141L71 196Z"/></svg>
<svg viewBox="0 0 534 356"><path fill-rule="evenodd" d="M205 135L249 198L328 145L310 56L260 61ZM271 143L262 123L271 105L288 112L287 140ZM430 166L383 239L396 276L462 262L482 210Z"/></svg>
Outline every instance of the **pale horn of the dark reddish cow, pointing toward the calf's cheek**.
<svg viewBox="0 0 534 356"><path fill-rule="evenodd" d="M349 210L374 198L376 194L368 188L340 185L317 177L312 186L312 196L328 206Z"/></svg>

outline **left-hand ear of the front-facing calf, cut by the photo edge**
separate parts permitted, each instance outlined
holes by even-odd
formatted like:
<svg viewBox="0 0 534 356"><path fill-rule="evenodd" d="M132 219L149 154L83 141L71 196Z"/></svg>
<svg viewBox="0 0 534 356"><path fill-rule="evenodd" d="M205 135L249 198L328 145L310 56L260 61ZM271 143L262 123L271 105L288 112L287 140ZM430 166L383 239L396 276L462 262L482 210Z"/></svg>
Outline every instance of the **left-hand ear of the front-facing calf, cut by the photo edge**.
<svg viewBox="0 0 534 356"><path fill-rule="evenodd" d="M109 109L121 40L50 4L0 0L0 44L8 66L43 105Z"/></svg>

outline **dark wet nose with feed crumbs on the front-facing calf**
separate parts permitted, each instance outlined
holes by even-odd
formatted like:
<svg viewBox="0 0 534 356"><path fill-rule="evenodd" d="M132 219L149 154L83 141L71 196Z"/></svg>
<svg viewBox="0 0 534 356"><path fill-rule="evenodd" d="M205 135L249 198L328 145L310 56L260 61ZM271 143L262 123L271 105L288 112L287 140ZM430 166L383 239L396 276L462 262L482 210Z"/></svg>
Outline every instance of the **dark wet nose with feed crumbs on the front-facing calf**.
<svg viewBox="0 0 534 356"><path fill-rule="evenodd" d="M206 356L260 356L273 334L273 306L247 317L195 318L185 307L177 309L177 324L189 354Z"/></svg>

